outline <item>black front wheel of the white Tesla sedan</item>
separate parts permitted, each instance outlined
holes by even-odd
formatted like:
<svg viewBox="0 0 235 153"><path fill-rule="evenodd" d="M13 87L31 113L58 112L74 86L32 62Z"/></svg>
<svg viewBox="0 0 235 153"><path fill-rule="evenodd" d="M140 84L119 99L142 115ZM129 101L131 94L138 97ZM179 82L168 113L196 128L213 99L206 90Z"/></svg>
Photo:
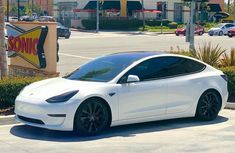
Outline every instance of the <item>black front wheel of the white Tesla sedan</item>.
<svg viewBox="0 0 235 153"><path fill-rule="evenodd" d="M111 115L107 105L91 98L79 106L74 118L74 132L78 135L96 135L110 126Z"/></svg>

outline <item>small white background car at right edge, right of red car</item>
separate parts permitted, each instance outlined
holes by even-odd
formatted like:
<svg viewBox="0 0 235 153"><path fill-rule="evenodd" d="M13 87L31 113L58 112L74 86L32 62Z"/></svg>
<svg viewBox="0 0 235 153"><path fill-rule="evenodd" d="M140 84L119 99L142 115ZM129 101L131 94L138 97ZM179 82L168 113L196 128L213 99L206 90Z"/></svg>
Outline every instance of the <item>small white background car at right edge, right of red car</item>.
<svg viewBox="0 0 235 153"><path fill-rule="evenodd" d="M214 36L214 35L218 35L218 36L227 35L228 31L231 28L234 28L234 27L235 27L235 24L233 24L233 23L220 23L215 28L211 28L208 31L208 34L210 36Z"/></svg>

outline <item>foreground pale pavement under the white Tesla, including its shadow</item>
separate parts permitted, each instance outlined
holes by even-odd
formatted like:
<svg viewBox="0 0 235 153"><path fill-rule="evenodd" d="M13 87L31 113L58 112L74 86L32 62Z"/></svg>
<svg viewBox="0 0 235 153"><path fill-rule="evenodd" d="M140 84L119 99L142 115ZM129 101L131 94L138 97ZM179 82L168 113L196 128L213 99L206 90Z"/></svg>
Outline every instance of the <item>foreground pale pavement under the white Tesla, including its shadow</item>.
<svg viewBox="0 0 235 153"><path fill-rule="evenodd" d="M0 153L234 153L235 111L212 122L193 118L113 127L79 137L26 125L0 126Z"/></svg>

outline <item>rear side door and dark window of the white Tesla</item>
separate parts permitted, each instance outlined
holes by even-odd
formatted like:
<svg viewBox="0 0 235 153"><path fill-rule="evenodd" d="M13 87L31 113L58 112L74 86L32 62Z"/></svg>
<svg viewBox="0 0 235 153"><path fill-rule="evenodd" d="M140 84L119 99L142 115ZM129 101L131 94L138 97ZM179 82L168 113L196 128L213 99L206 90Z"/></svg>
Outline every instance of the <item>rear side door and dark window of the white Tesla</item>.
<svg viewBox="0 0 235 153"><path fill-rule="evenodd" d="M198 102L201 94L199 73L205 65L194 60L169 57L167 114L189 110Z"/></svg>

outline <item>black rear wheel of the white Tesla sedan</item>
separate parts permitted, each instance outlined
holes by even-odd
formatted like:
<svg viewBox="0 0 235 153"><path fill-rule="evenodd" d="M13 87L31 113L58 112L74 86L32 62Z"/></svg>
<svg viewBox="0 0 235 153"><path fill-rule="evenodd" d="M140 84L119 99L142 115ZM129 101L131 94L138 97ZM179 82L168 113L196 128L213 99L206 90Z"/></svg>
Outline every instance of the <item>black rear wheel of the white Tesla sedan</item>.
<svg viewBox="0 0 235 153"><path fill-rule="evenodd" d="M201 121L212 121L214 120L221 108L220 95L214 90L208 90L204 92L197 105L196 119Z"/></svg>

